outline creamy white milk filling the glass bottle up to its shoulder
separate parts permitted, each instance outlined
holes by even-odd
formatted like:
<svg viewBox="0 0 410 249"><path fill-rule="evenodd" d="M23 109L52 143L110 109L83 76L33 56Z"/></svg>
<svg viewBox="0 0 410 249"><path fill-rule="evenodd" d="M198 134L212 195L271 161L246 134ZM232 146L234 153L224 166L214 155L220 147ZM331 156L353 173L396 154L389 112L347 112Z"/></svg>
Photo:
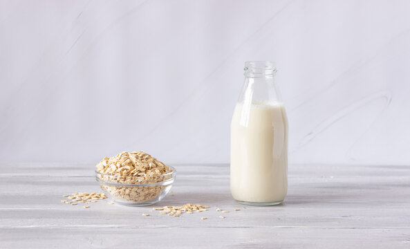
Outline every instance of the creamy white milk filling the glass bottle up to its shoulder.
<svg viewBox="0 0 410 249"><path fill-rule="evenodd" d="M245 107L245 108L244 108ZM288 191L288 120L283 104L236 104L231 123L231 193L279 203Z"/></svg>

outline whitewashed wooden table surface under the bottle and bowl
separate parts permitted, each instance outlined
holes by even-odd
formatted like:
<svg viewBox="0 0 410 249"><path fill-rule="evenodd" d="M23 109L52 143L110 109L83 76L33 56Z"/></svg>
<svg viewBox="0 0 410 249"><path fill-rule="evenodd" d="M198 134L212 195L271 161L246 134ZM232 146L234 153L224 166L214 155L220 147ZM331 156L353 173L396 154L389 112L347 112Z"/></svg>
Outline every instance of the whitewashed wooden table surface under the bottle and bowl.
<svg viewBox="0 0 410 249"><path fill-rule="evenodd" d="M101 192L93 165L0 165L0 248L410 248L410 167L290 165L283 205L251 207L230 196L228 165L174 166L157 205L84 209L60 200ZM211 208L149 212L184 203Z"/></svg>

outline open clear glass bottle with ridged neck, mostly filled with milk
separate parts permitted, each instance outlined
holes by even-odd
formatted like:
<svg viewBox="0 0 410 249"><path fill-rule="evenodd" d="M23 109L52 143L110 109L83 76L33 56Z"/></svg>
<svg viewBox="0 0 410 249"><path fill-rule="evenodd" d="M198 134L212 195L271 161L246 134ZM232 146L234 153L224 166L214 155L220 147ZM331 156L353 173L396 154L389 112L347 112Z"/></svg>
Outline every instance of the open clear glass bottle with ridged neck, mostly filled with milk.
<svg viewBox="0 0 410 249"><path fill-rule="evenodd" d="M274 62L245 62L231 122L230 188L239 203L277 205L288 191L288 118Z"/></svg>

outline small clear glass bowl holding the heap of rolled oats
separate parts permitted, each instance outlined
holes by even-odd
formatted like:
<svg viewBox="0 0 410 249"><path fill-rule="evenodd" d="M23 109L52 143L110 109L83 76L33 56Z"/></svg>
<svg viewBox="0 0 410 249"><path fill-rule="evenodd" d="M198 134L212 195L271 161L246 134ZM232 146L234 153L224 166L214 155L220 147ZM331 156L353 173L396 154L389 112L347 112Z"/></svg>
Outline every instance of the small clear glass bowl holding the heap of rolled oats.
<svg viewBox="0 0 410 249"><path fill-rule="evenodd" d="M168 166L170 167L170 166ZM171 190L176 169L158 176L113 176L95 171L95 180L106 196L122 205L152 205L161 201Z"/></svg>

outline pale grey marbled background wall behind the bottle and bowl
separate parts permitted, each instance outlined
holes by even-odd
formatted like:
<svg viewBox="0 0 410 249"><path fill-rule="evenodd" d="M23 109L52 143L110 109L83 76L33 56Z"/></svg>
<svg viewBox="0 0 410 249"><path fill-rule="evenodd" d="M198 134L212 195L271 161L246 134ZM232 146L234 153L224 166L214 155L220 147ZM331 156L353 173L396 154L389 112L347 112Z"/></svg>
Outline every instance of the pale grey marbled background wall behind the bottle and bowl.
<svg viewBox="0 0 410 249"><path fill-rule="evenodd" d="M0 163L229 162L274 60L290 163L410 164L410 1L0 1Z"/></svg>

